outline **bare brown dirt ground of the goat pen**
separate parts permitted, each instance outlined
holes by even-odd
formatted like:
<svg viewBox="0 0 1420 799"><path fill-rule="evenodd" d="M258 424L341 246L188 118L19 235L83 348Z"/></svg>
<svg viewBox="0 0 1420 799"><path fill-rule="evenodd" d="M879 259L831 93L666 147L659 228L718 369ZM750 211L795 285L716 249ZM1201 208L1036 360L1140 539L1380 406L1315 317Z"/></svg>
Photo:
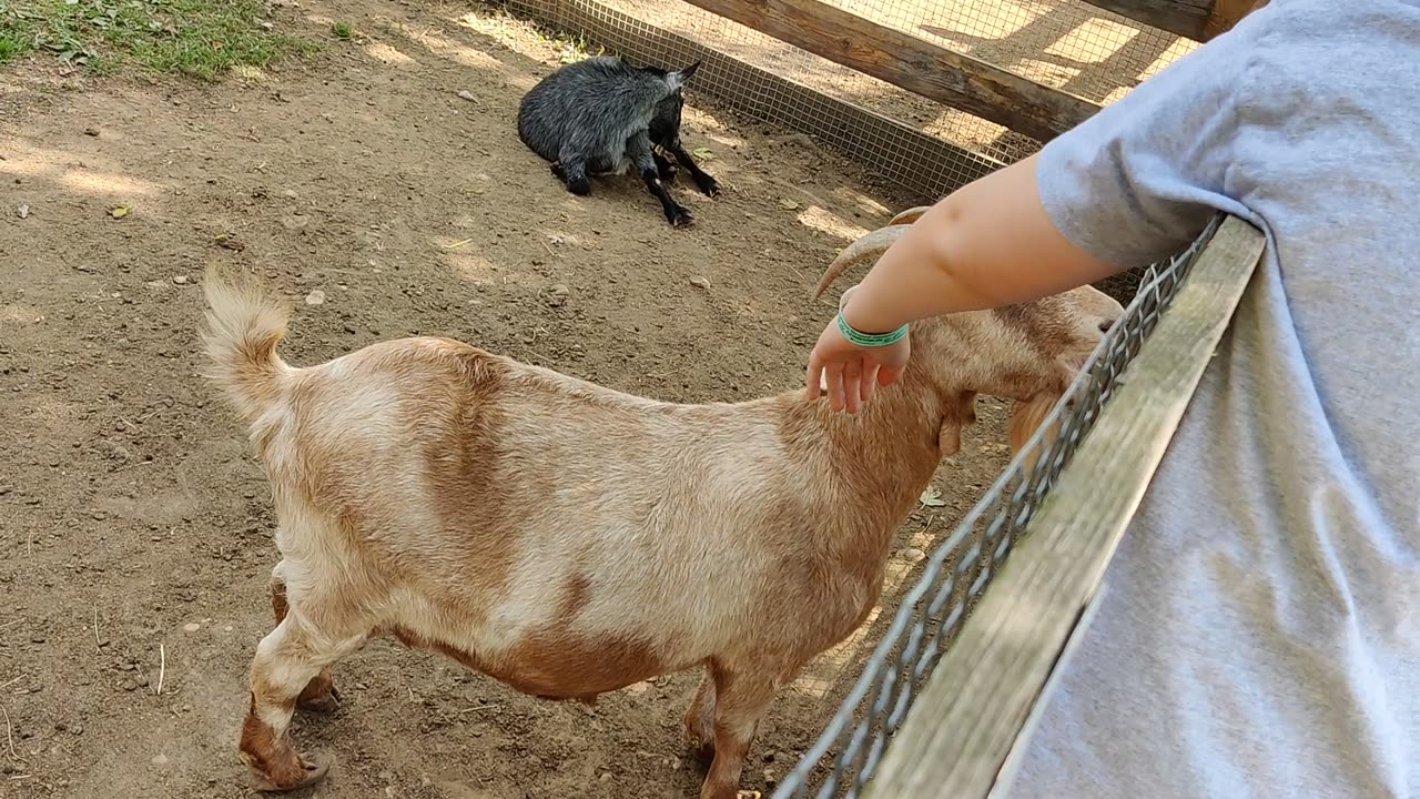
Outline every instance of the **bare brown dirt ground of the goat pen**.
<svg viewBox="0 0 1420 799"><path fill-rule="evenodd" d="M293 299L297 364L442 334L656 398L738 400L799 384L831 313L808 301L819 272L905 205L714 108L687 109L726 186L674 189L694 227L672 230L633 178L574 198L514 135L558 47L467 13L288 4L275 20L325 36L322 54L216 87L45 61L0 75L0 795L250 795L234 741L271 627L274 520L244 431L196 375L207 263ZM322 33L337 14L352 41ZM897 579L1000 471L1001 442L983 401L939 476L949 503L899 532ZM826 692L781 694L744 788L814 741L852 654L815 668ZM295 726L334 762L314 796L673 798L703 775L679 728L694 674L586 708L376 641L337 680L344 707Z"/></svg>

